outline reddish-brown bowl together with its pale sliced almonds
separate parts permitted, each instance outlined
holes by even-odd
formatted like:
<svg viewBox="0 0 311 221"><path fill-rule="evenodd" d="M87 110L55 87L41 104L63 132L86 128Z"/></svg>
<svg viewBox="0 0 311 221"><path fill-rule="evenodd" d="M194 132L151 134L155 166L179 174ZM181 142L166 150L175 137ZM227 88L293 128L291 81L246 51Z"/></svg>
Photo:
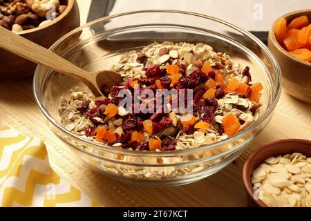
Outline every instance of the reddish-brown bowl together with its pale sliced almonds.
<svg viewBox="0 0 311 221"><path fill-rule="evenodd" d="M249 206L311 206L310 156L310 140L279 140L256 148L243 166Z"/></svg>

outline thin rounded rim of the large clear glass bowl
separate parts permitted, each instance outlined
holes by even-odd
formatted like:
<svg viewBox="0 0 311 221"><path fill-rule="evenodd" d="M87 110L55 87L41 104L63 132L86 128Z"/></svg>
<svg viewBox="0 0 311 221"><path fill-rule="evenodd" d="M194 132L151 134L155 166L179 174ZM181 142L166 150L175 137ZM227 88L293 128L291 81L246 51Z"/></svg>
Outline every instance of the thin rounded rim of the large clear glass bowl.
<svg viewBox="0 0 311 221"><path fill-rule="evenodd" d="M188 153L196 153L196 152L200 152L200 151L206 151L209 148L215 148L217 146L223 146L229 142L233 142L234 140L237 140L238 138L243 137L243 135L246 135L249 131L252 131L252 129L256 128L256 126L261 124L261 122L263 122L268 116L270 116L272 111L274 111L274 108L275 108L277 102L279 101L279 97L281 96L281 68L279 66L279 63L276 61L276 58L274 57L272 52L270 52L270 50L267 48L267 46L265 46L265 44L263 44L263 42L261 40L259 40L257 37L252 35L247 30L244 30L243 28L239 28L238 26L235 26L232 23L229 23L227 21L223 21L222 19L218 19L216 17L211 17L208 15L203 15L203 14L196 13L196 12L187 12L187 11L182 11L182 10L136 10L136 11L131 11L131 12L123 12L123 13L119 13L116 15L110 15L107 17L102 17L100 19L96 19L94 21L88 22L88 23L84 24L83 26L75 28L74 30L68 32L66 35L64 35L63 37L58 39L52 46L50 46L49 50L53 50L64 39L66 39L66 37L73 35L74 33L77 33L79 31L82 31L84 28L88 28L95 23L100 23L102 21L106 21L106 20L113 19L116 17L123 17L126 15L135 15L135 14L139 14L139 13L149 13L149 12L150 13L152 13L152 12L162 13L163 12L163 13L172 13L172 14L177 13L177 14L181 14L181 15L191 15L191 16L201 17L203 19L209 19L212 21L216 21L218 23L223 23L225 26L229 26L230 28L233 28L233 29L237 30L238 32L241 32L243 35L249 37L249 39L251 39L258 46L260 46L265 51L265 53L270 58L270 60L272 61L274 70L276 71L276 81L278 83L276 85L276 94L274 95L274 97L272 97L272 102L271 102L270 106L269 105L267 106L267 110L265 111L264 115L262 117L260 117L256 122L254 122L253 124L248 126L245 130L243 130L239 133L236 133L236 135L233 135L232 137L229 137L229 138L222 140L220 142L216 142L214 144L208 144L205 146L198 146L196 148L189 148L189 149L185 149L185 150L175 150L175 151L154 151L154 152L133 151L133 150L115 148L113 146L109 146L109 145L105 145L105 144L97 144L97 143L92 142L90 140L86 140L82 137L79 137L78 135L75 135L74 133L71 133L70 131L67 131L62 125L58 124L55 121L55 119L48 114L48 111L46 111L46 108L44 108L44 104L40 100L38 82L39 82L39 68L41 67L41 65L37 65L36 70L35 70L35 75L33 78L32 89L33 89L35 101L36 101L37 105L39 106L40 111L49 120L49 122L51 122L54 126L56 126L60 131L66 133L66 135L69 135L70 137L75 137L75 140L79 140L79 142L81 142L82 144L83 143L90 144L92 146L92 148L94 148L94 147L98 148L100 151L108 151L108 152L124 154L124 155L135 155L135 156L140 156L140 157L153 157L153 156L171 157L171 156L175 156L175 155L184 155L184 154L188 154ZM70 145L72 145L72 144L70 144ZM240 148L241 148L241 146L240 146ZM82 151L79 148L76 148L76 149L79 151ZM223 153L219 153L217 155L219 155L219 156L224 155L228 151L230 151L230 150L224 151ZM88 154L93 155L92 153L88 153Z"/></svg>

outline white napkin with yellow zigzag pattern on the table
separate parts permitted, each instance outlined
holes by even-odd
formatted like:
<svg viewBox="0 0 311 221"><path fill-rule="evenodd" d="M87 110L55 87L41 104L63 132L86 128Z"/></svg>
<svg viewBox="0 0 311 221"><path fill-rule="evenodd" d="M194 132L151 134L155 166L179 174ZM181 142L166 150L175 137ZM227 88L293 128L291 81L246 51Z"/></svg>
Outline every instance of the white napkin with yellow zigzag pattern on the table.
<svg viewBox="0 0 311 221"><path fill-rule="evenodd" d="M46 146L0 124L0 206L101 206L64 181Z"/></svg>

